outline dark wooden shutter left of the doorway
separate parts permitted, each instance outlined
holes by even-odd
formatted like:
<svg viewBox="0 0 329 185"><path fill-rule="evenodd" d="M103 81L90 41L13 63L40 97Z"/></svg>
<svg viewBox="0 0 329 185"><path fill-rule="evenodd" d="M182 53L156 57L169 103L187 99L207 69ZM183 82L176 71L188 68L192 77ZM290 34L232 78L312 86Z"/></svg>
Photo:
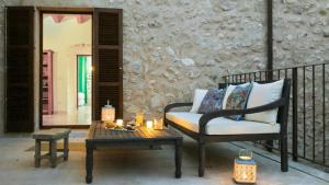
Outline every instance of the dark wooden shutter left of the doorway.
<svg viewBox="0 0 329 185"><path fill-rule="evenodd" d="M5 131L31 132L33 123L34 9L5 8Z"/></svg>

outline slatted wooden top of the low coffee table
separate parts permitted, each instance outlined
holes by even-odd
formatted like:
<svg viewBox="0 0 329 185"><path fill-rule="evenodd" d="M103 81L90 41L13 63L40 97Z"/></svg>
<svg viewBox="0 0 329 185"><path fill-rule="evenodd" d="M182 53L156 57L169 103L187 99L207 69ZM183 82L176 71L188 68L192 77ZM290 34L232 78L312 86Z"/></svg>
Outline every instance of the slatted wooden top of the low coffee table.
<svg viewBox="0 0 329 185"><path fill-rule="evenodd" d="M182 139L182 136L172 130L155 130L139 127L136 131L109 130L100 122L93 122L90 126L87 140L174 140Z"/></svg>

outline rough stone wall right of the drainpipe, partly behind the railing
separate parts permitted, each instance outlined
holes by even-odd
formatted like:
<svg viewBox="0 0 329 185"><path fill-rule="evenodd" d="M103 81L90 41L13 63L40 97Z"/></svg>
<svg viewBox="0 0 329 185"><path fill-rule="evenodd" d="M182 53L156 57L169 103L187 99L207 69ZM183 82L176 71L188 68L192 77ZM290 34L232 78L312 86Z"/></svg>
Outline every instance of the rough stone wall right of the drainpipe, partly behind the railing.
<svg viewBox="0 0 329 185"><path fill-rule="evenodd" d="M315 94L313 94L313 69L305 72L305 111L303 69L298 69L298 153L308 159L322 162L324 124L326 160L329 162L329 1L328 0L284 0L274 1L274 68L294 67L327 62L325 85L322 66L315 67ZM288 72L291 77L291 72ZM325 92L322 89L325 88ZM324 94L326 97L324 99ZM315 135L313 122L313 95L315 96ZM326 118L324 119L324 103ZM304 126L305 115L305 126ZM290 117L290 126L292 126ZM305 129L305 136L304 136ZM291 128L288 129L291 132ZM292 135L290 135L292 136ZM304 146L305 139L305 146ZM291 140L291 139L290 139ZM315 140L315 146L313 143ZM315 147L315 153L313 148Z"/></svg>

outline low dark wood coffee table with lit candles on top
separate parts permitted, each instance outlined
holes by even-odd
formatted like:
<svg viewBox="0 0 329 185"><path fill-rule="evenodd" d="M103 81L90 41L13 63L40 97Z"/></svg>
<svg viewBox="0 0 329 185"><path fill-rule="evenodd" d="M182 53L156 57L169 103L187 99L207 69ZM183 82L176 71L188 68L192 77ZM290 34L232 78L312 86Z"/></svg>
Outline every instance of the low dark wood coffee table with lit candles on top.
<svg viewBox="0 0 329 185"><path fill-rule="evenodd" d="M182 165L182 136L174 130L154 130L145 127L136 131L106 130L100 122L93 122L86 139L86 182L92 182L93 151L102 146L162 146L173 144L175 147L174 163L175 177L181 177Z"/></svg>

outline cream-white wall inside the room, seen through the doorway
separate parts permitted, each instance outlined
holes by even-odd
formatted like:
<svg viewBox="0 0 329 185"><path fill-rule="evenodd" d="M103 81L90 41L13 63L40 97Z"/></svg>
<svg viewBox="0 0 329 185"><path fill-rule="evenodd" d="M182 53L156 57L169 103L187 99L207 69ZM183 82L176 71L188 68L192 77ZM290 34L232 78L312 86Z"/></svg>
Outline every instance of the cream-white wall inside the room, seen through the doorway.
<svg viewBox="0 0 329 185"><path fill-rule="evenodd" d="M78 23L65 16L55 23L52 16L43 21L43 49L52 49L54 112L67 113L77 109L77 55L91 55L91 19Z"/></svg>

